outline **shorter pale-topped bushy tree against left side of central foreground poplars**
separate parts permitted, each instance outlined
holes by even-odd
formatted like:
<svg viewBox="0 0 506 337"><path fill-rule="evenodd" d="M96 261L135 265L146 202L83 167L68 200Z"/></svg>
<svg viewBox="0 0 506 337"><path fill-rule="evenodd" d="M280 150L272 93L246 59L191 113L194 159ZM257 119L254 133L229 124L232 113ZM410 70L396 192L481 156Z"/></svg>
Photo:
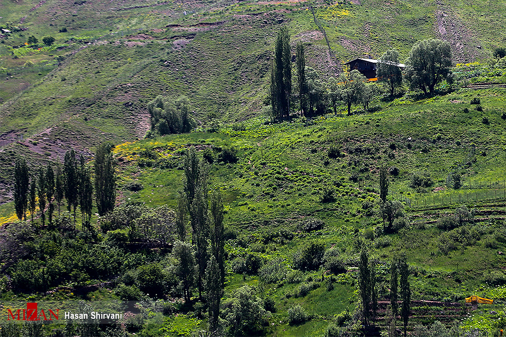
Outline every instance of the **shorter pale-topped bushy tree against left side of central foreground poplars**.
<svg viewBox="0 0 506 337"><path fill-rule="evenodd" d="M181 280L185 303L189 304L192 296L191 289L195 284L195 253L190 244L177 240L174 243L173 255L178 261L176 275Z"/></svg>

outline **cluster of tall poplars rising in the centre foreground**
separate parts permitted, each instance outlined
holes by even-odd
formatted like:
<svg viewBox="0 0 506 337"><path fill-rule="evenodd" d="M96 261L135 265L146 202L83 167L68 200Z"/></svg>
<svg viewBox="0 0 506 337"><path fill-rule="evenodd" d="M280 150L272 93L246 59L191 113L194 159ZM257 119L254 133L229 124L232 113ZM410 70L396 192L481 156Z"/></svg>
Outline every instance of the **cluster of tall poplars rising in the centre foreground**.
<svg viewBox="0 0 506 337"><path fill-rule="evenodd" d="M179 192L176 228L179 240L174 252L184 270L182 278L185 303L190 303L192 287L198 288L198 298L205 300L209 331L218 330L220 301L225 284L225 239L223 202L220 192L208 193L208 166L197 156L194 147L188 149L184 162L183 190ZM191 227L191 244L187 240L187 223Z"/></svg>

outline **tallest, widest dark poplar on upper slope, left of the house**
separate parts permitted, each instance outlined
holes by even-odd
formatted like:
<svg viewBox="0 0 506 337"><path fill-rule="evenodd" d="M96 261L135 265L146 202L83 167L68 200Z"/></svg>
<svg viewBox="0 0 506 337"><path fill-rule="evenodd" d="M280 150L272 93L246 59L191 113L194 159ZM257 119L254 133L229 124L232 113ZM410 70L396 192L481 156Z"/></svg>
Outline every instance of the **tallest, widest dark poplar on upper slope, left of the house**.
<svg viewBox="0 0 506 337"><path fill-rule="evenodd" d="M271 105L275 120L290 117L291 53L290 35L281 28L276 38L274 64L271 70Z"/></svg>

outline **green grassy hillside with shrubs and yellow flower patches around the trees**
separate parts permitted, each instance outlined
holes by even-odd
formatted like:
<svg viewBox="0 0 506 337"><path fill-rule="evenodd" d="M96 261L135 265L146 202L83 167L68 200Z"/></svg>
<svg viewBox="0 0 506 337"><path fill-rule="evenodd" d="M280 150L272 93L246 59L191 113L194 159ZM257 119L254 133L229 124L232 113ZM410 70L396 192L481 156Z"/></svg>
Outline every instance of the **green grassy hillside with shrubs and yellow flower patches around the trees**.
<svg viewBox="0 0 506 337"><path fill-rule="evenodd" d="M105 312L125 313L115 324L1 322L1 336L214 335L206 332L212 287L204 283L200 297L193 283L185 301L194 270L184 271L178 255L178 223L190 250L201 235L175 211L193 148L209 171L205 197L223 198L218 335L399 335L390 325L391 266L405 257L408 333L499 336L506 319L506 59L491 55L505 43L501 2L1 6L0 27L11 31L0 44L2 317L15 307L8 303L24 308L28 300L84 301L82 310L105 303ZM291 54L304 43L307 66L323 83L355 57L395 48L404 62L417 40L431 37L450 42L456 81L425 95L404 86L394 97L373 83L368 112L354 105L348 115L340 102L336 114L328 105L323 115L293 111L273 122L263 108L281 27ZM25 44L30 36L37 45ZM46 36L55 37L52 45L41 42ZM196 130L145 138L147 105L157 95L186 95ZM54 223L43 225L39 206L34 219L17 221L16 158L26 158L34 174L75 149L93 168L93 153L107 140L116 163L113 212L99 216L93 208L86 223L64 201ZM208 217L206 225L216 221ZM373 324L364 325L366 251L378 306ZM471 295L494 304L464 304ZM400 315L394 325L402 329Z"/></svg>

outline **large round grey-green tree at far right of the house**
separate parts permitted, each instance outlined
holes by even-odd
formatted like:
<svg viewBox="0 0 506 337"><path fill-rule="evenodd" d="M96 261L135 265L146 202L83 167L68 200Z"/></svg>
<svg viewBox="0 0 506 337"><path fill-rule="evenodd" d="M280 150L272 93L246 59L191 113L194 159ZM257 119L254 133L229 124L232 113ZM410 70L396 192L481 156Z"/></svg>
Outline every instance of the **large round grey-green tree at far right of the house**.
<svg viewBox="0 0 506 337"><path fill-rule="evenodd" d="M406 61L405 74L411 88L434 92L436 85L448 79L451 71L450 43L429 39L416 42Z"/></svg>

